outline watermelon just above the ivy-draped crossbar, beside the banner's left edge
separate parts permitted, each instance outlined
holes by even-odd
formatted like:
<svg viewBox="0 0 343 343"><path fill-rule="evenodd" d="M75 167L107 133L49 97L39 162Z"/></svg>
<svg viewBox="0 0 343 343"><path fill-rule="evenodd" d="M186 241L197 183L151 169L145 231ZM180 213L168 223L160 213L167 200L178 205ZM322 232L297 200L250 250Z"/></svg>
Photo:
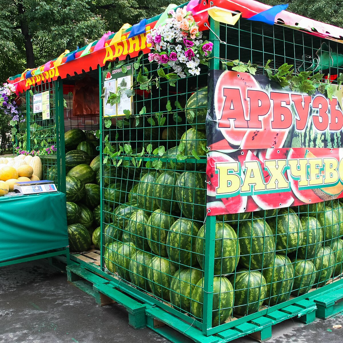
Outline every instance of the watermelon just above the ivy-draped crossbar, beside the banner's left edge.
<svg viewBox="0 0 343 343"><path fill-rule="evenodd" d="M207 140L205 131L190 128L182 135L180 139L181 143L185 146L185 150L182 151L182 154L185 156L192 156L193 150L198 156L206 155ZM204 169L205 165L199 164L198 167Z"/></svg>

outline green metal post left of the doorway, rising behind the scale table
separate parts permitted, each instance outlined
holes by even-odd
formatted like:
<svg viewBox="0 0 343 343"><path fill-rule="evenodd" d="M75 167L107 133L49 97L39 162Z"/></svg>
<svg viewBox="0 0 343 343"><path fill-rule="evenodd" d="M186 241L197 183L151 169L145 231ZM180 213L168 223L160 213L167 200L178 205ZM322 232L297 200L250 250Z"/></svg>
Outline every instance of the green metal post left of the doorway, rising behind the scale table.
<svg viewBox="0 0 343 343"><path fill-rule="evenodd" d="M58 189L66 193L66 162L64 153L64 106L63 106L63 83L61 79L55 81L55 125L56 125L56 148L57 148L57 175Z"/></svg>

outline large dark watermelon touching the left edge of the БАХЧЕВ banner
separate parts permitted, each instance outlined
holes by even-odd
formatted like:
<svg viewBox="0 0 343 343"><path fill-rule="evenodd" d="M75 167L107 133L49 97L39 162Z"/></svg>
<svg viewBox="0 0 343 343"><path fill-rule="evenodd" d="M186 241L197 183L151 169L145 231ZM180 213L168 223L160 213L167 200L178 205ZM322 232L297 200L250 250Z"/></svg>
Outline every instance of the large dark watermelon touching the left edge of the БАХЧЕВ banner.
<svg viewBox="0 0 343 343"><path fill-rule="evenodd" d="M185 171L176 181L176 199L182 215L204 221L206 212L206 186L204 173Z"/></svg>

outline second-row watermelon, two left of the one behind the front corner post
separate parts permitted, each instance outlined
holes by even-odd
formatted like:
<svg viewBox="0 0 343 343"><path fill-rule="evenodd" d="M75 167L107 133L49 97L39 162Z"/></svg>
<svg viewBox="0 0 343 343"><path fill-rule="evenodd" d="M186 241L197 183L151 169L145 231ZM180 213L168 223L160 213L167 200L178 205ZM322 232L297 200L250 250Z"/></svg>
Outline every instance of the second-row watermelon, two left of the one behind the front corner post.
<svg viewBox="0 0 343 343"><path fill-rule="evenodd" d="M175 218L161 209L154 211L146 223L146 237L151 250L159 256L167 256L167 235Z"/></svg>

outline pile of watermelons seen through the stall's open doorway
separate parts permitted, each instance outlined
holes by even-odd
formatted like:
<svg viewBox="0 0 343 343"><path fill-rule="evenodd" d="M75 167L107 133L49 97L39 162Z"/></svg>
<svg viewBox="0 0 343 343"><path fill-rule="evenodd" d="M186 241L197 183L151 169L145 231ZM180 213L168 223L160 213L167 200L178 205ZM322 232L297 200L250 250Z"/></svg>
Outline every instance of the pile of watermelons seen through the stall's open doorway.
<svg viewBox="0 0 343 343"><path fill-rule="evenodd" d="M70 251L85 251L92 242L99 248L100 186L95 182L100 169L99 140L93 133L75 128L64 134L64 144Z"/></svg>

